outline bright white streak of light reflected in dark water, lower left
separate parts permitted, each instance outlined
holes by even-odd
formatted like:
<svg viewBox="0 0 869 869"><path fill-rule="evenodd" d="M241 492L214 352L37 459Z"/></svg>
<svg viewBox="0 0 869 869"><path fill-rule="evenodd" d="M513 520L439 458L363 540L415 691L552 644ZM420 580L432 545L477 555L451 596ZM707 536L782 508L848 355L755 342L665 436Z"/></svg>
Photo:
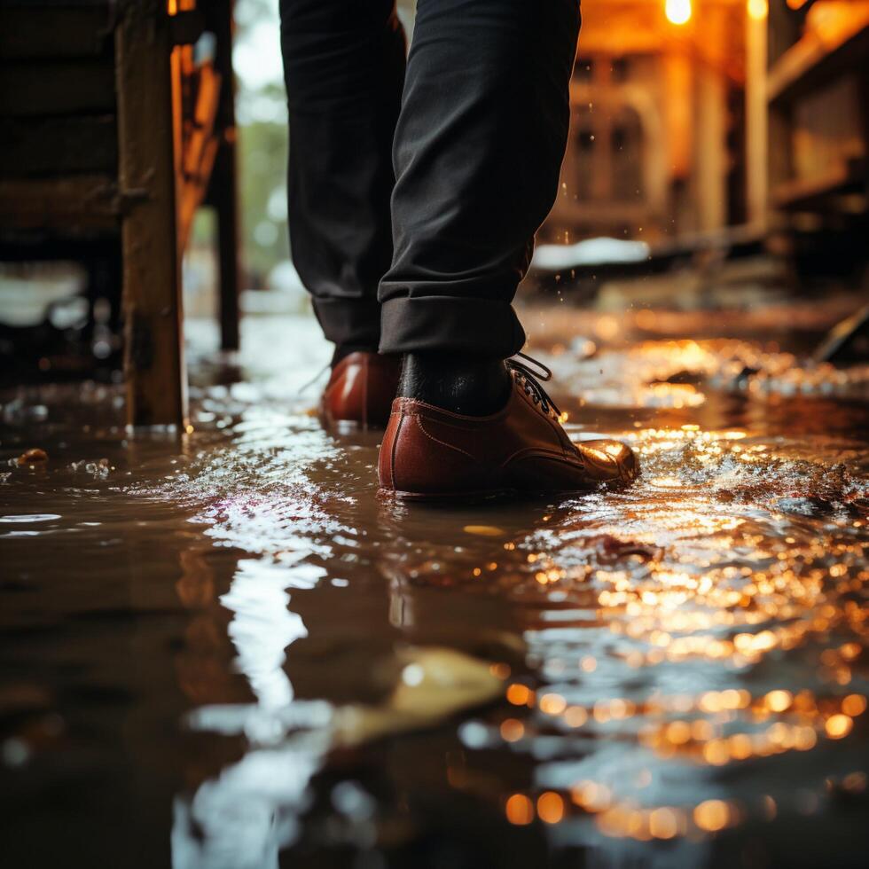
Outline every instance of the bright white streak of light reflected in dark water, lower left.
<svg viewBox="0 0 869 869"><path fill-rule="evenodd" d="M188 725L243 735L250 748L191 799L176 799L176 869L269 869L298 835L309 781L329 741L328 707L294 702L284 671L286 648L308 633L289 608L288 590L310 588L325 574L300 563L306 554L296 552L294 560L286 554L278 561L239 560L230 591L220 599L232 614L227 633L237 652L233 665L246 677L255 702L201 706Z"/></svg>

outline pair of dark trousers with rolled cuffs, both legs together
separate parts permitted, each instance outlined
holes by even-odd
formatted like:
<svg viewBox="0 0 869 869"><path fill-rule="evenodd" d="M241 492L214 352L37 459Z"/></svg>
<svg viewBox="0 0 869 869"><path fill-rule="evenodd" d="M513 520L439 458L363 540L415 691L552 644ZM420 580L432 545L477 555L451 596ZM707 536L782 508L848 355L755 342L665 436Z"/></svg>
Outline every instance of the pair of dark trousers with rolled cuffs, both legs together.
<svg viewBox="0 0 869 869"><path fill-rule="evenodd" d="M281 0L293 258L326 338L505 358L568 136L578 0Z"/></svg>

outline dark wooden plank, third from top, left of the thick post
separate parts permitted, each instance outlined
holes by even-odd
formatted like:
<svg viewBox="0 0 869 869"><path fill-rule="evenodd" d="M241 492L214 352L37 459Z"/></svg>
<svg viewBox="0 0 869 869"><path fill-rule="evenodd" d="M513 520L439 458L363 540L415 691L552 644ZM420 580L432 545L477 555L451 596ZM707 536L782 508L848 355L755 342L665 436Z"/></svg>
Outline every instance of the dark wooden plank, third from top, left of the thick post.
<svg viewBox="0 0 869 869"><path fill-rule="evenodd" d="M4 120L0 136L4 176L114 175L117 159L114 115Z"/></svg>

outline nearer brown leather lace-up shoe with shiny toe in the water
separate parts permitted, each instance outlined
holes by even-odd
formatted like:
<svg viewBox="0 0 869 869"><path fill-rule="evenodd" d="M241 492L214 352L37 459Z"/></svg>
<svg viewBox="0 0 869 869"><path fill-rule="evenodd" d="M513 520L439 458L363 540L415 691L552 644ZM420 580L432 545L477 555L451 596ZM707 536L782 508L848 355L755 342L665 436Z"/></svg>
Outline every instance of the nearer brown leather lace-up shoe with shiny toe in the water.
<svg viewBox="0 0 869 869"><path fill-rule="evenodd" d="M528 368L508 366L510 398L491 416L462 416L396 398L380 446L381 491L406 500L564 494L637 476L630 447L571 442L558 408Z"/></svg>

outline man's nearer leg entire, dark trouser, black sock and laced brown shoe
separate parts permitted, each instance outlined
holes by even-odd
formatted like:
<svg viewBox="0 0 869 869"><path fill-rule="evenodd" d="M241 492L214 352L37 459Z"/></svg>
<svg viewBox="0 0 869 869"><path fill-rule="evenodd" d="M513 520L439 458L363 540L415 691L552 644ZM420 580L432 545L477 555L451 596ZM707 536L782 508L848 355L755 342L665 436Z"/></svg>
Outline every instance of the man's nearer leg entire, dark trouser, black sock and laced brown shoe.
<svg viewBox="0 0 869 869"><path fill-rule="evenodd" d="M404 366L380 445L407 500L625 483L622 443L575 444L527 364L513 294L558 189L578 0L419 0L395 134L380 349Z"/></svg>

